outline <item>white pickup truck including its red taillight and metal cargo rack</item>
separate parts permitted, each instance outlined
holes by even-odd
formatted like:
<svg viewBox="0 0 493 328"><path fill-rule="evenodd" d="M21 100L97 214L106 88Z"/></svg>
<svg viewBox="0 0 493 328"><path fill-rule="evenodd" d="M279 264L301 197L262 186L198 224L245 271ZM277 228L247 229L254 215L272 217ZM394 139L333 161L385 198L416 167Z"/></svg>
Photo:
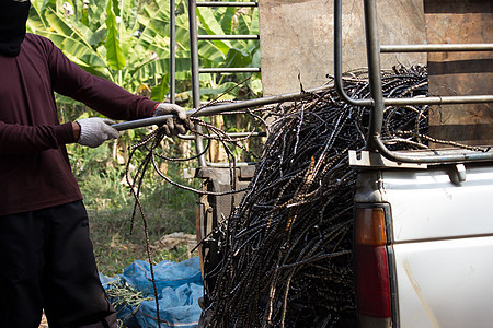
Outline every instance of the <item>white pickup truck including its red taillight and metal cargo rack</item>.
<svg viewBox="0 0 493 328"><path fill-rule="evenodd" d="M381 46L375 24L375 1L364 2L372 93L368 99L347 97L342 80L337 79L341 0L335 0L334 23L339 92L348 103L374 109L367 150L352 152L349 156L351 165L359 169L354 212L359 327L493 327L493 153L488 147L483 151L389 151L380 140L382 110L389 105L404 106L405 101L383 98L379 75L380 52L420 50L449 55L460 48L466 52L489 51L491 58L493 47L491 44ZM454 12L452 4L485 7L482 1L448 1L442 5ZM467 15L458 16L463 20ZM484 28L475 26L483 37L484 31L492 32L491 4L485 16ZM486 36L490 40L491 37ZM488 67L491 59L483 62L482 69L491 71L491 66ZM485 77L483 89L491 93L491 75ZM432 83L431 79L431 89ZM490 95L431 96L410 102L483 104L481 110L492 113ZM491 140L491 125L484 132L488 134L484 140Z"/></svg>

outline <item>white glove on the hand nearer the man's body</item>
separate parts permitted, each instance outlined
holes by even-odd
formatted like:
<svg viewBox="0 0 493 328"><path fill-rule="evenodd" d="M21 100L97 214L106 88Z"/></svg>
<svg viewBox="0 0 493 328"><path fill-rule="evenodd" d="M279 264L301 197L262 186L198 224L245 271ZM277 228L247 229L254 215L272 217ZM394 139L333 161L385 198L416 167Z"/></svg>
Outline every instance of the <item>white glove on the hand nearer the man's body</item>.
<svg viewBox="0 0 493 328"><path fill-rule="evenodd" d="M110 125L115 124L113 120L101 117L81 118L76 120L80 126L80 137L77 141L82 145L96 148L104 141L116 139L119 133Z"/></svg>

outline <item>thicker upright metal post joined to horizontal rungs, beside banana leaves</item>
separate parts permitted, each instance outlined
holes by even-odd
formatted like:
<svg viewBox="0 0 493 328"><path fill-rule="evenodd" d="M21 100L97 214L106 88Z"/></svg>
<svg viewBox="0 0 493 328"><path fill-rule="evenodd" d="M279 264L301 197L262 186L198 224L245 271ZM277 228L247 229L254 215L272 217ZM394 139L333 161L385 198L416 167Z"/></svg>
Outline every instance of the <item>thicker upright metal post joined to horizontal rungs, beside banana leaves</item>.
<svg viewBox="0 0 493 328"><path fill-rule="evenodd" d="M190 26L190 58L192 61L192 101L194 108L200 106L200 89L198 77L198 30L197 30L197 2L196 0L188 0L188 26ZM202 127L195 127L197 131L202 132ZM195 137L195 149L197 154L204 152L203 138L200 136ZM204 167L207 165L205 155L198 156L198 165Z"/></svg>

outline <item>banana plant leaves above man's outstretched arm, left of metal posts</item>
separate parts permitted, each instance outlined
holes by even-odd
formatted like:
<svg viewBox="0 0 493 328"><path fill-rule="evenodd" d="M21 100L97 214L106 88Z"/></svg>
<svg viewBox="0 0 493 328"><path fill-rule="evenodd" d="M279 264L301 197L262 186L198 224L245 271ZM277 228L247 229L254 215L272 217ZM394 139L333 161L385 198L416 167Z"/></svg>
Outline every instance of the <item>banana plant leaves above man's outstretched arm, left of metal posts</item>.
<svg viewBox="0 0 493 328"><path fill-rule="evenodd" d="M136 0L33 0L27 27L51 39L82 69L129 92L158 84L165 90L162 77L168 72L169 49L163 35L169 15L161 7L152 11L145 7ZM186 69L184 60L179 68Z"/></svg>

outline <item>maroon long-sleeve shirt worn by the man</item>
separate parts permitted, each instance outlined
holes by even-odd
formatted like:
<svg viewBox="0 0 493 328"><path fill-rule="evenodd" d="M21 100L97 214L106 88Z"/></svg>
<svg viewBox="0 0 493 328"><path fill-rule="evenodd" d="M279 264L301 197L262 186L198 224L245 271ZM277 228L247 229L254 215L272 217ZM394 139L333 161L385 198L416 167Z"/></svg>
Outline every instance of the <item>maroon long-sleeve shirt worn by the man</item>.
<svg viewBox="0 0 493 328"><path fill-rule="evenodd" d="M47 38L26 34L16 57L0 55L0 215L82 199L59 124L54 91L113 119L152 116L157 105L72 63Z"/></svg>

